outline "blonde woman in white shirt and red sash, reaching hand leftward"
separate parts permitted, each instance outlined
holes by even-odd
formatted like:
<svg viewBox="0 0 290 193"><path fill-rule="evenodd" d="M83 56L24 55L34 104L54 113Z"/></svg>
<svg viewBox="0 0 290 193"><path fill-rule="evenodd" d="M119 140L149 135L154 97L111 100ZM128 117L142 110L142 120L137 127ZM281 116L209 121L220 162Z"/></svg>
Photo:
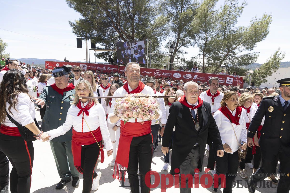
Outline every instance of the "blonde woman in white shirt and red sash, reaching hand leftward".
<svg viewBox="0 0 290 193"><path fill-rule="evenodd" d="M73 126L74 165L84 176L83 193L89 193L90 190L97 190L99 187L101 172L94 170L99 154L101 153L101 162L103 162L104 145L108 156L112 155L113 146L103 106L98 103L97 99L79 99L79 97L93 96L93 88L90 83L81 80L75 90L77 95L73 105L68 109L65 123L46 133L52 139L64 135Z"/></svg>

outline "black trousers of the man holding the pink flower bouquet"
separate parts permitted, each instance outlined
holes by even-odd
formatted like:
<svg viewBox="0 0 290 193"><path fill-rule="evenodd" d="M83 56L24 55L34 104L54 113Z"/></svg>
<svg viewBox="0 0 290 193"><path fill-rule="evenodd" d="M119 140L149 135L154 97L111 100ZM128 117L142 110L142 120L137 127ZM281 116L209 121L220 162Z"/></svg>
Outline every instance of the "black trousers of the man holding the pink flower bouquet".
<svg viewBox="0 0 290 193"><path fill-rule="evenodd" d="M141 193L150 192L150 188L145 184L145 175L147 172L150 172L153 151L152 147L153 143L151 134L133 137L131 141L127 172L132 193L139 193L139 179L137 174L138 165L141 176Z"/></svg>

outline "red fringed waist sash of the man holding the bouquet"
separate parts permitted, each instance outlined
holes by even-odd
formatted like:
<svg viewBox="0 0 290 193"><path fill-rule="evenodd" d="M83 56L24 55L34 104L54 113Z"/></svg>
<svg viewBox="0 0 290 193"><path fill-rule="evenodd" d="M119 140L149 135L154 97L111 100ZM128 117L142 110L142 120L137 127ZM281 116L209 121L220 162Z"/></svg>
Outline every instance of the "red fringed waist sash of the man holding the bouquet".
<svg viewBox="0 0 290 193"><path fill-rule="evenodd" d="M151 120L140 122L126 122L121 120L121 134L119 139L119 146L115 161L113 178L121 180L121 171L124 170L124 176L129 163L130 145L133 137L140 137L151 133Z"/></svg>

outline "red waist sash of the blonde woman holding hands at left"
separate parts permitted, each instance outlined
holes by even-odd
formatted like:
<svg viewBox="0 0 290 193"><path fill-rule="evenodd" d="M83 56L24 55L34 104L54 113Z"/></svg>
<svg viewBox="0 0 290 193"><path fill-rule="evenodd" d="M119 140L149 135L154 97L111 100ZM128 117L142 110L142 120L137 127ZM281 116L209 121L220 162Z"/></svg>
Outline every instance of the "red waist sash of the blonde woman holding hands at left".
<svg viewBox="0 0 290 193"><path fill-rule="evenodd" d="M96 139L93 137L92 133ZM81 145L90 145L90 144L96 143L96 140L102 141L102 133L101 133L100 127L97 128L96 130L93 130L92 133L91 132L85 132L85 133L76 132L73 129L73 136L72 136L73 162L74 162L75 167L80 173L83 173L83 168L81 168ZM105 158L103 147L104 145L101 142L101 149L98 152L98 157L101 152L102 163L104 162L104 158Z"/></svg>

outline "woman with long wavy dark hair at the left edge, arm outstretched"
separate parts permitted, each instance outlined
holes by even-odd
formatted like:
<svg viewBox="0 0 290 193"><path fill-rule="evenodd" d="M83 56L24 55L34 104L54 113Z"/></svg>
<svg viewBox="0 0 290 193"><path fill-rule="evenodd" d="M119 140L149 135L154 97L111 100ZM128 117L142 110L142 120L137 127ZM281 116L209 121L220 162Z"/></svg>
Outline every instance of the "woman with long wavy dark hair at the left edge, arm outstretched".
<svg viewBox="0 0 290 193"><path fill-rule="evenodd" d="M17 69L6 72L0 85L0 95L0 154L5 154L12 164L10 192L29 193L33 144L21 137L18 127L8 119L7 113L43 141L48 140L49 135L35 125L34 103L28 95L23 73Z"/></svg>

